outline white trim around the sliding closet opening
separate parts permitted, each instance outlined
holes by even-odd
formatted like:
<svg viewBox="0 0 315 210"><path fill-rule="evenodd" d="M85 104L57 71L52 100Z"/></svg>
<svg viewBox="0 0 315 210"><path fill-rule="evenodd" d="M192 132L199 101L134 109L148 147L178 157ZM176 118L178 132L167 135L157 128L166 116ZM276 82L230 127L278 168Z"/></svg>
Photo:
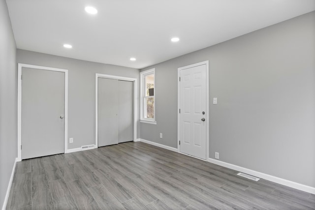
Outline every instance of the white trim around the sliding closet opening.
<svg viewBox="0 0 315 210"><path fill-rule="evenodd" d="M133 141L137 141L137 79L109 74L95 74L95 148L98 148L98 78L125 80L133 82Z"/></svg>

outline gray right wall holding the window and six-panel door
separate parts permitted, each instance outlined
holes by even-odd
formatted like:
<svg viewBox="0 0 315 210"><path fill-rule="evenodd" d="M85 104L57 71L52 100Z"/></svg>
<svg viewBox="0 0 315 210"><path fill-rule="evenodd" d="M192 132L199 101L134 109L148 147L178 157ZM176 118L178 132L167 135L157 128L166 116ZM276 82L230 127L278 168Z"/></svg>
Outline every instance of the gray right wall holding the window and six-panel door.
<svg viewBox="0 0 315 210"><path fill-rule="evenodd" d="M204 60L210 158L315 187L315 12L142 69L156 68L157 125L140 138L177 147L177 68Z"/></svg>

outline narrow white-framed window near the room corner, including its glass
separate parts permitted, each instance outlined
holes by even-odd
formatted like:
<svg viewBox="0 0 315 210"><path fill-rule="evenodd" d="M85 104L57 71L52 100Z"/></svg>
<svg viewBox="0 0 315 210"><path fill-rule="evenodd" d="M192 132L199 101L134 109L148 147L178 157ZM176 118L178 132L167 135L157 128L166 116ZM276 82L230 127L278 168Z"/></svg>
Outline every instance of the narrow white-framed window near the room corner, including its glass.
<svg viewBox="0 0 315 210"><path fill-rule="evenodd" d="M155 69L140 72L141 122L156 124L155 116Z"/></svg>

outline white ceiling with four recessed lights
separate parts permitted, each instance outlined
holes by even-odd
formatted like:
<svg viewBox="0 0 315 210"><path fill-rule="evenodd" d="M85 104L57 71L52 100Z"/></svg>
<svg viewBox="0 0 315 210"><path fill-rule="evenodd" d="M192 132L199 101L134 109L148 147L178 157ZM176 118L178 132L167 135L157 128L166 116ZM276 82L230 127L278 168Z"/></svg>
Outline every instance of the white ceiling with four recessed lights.
<svg viewBox="0 0 315 210"><path fill-rule="evenodd" d="M139 69L315 10L315 0L6 2L17 48Z"/></svg>

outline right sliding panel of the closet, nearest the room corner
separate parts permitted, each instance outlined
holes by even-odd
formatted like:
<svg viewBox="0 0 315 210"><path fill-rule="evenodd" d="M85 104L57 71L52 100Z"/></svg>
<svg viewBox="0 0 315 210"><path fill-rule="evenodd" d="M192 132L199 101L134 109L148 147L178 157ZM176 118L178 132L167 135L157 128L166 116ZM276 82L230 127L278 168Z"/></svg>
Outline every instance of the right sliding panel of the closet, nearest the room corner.
<svg viewBox="0 0 315 210"><path fill-rule="evenodd" d="M133 82L118 80L118 87L118 143L130 142L133 141Z"/></svg>

